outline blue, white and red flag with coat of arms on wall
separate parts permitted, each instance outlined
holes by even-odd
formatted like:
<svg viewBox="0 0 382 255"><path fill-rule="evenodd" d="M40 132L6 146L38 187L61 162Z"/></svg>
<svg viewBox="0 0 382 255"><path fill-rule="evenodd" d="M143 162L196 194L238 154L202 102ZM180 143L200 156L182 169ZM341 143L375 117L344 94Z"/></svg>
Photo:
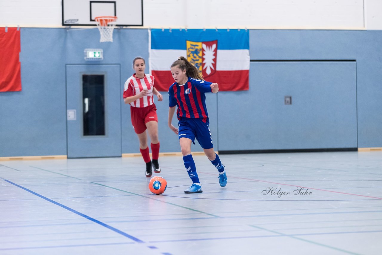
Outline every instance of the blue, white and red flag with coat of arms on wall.
<svg viewBox="0 0 382 255"><path fill-rule="evenodd" d="M155 88L175 81L171 64L184 56L220 91L249 89L249 31L245 29L151 29L149 66Z"/></svg>

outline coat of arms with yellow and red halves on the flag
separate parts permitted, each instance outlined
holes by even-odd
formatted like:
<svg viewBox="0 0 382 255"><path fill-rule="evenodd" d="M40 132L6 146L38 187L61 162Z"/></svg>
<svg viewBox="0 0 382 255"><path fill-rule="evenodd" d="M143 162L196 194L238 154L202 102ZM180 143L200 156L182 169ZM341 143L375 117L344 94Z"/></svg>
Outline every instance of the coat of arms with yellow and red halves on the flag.
<svg viewBox="0 0 382 255"><path fill-rule="evenodd" d="M206 78L216 72L217 40L209 42L186 41L187 60Z"/></svg>

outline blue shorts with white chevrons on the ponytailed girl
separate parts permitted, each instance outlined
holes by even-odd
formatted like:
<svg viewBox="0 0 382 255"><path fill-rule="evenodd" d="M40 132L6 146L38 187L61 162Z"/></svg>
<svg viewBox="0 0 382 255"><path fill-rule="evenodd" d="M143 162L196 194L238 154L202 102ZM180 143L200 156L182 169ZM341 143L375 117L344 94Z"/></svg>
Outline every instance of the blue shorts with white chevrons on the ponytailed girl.
<svg viewBox="0 0 382 255"><path fill-rule="evenodd" d="M195 144L195 138L203 149L214 148L209 122L202 122L202 119L182 118L178 122L179 139L189 138Z"/></svg>

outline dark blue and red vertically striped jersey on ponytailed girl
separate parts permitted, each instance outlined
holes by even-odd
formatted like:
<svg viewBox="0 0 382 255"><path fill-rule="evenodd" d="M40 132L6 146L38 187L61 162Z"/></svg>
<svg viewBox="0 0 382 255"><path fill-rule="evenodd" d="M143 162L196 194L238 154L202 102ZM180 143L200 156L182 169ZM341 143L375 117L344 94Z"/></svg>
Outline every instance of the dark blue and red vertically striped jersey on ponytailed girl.
<svg viewBox="0 0 382 255"><path fill-rule="evenodd" d="M178 120L188 118L209 122L204 93L212 92L210 84L212 83L209 81L189 77L186 84L182 86L176 82L170 86L168 89L169 106L178 106L176 111Z"/></svg>

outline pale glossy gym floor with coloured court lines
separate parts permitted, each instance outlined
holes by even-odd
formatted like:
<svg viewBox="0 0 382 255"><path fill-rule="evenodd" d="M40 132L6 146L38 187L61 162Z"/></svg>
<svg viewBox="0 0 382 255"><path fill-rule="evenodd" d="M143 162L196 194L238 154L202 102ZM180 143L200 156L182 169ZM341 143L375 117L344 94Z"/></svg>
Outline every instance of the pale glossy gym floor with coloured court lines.
<svg viewBox="0 0 382 255"><path fill-rule="evenodd" d="M0 254L381 254L382 152L0 162Z"/></svg>

